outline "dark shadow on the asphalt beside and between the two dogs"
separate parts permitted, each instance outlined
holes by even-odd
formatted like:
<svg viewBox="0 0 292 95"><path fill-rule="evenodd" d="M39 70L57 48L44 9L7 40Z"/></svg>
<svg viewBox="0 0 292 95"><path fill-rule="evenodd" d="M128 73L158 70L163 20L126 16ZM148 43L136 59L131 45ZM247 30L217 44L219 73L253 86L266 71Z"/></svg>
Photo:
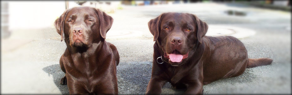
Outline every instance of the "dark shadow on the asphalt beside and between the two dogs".
<svg viewBox="0 0 292 95"><path fill-rule="evenodd" d="M151 78L152 64L141 62L142 64L120 63L117 66L117 78L119 94L145 94L146 87ZM146 63L146 64L145 64ZM152 63L152 62L151 62ZM62 94L69 94L67 85L60 85L60 80L65 73L59 64L54 64L43 68L48 75L53 75L53 81ZM161 94L181 94L186 89L175 89L166 83ZM169 93L170 92L170 93Z"/></svg>

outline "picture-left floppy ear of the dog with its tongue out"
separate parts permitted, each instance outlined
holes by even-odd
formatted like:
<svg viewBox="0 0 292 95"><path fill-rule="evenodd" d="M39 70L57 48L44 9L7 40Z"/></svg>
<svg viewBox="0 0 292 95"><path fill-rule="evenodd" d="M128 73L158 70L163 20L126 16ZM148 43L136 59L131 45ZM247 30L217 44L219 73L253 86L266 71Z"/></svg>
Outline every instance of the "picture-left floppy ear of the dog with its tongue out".
<svg viewBox="0 0 292 95"><path fill-rule="evenodd" d="M156 17L155 19L152 19L148 22L149 31L154 36L153 41L156 41L158 36L159 36L160 20L162 17L163 17L163 14L160 14L158 17Z"/></svg>

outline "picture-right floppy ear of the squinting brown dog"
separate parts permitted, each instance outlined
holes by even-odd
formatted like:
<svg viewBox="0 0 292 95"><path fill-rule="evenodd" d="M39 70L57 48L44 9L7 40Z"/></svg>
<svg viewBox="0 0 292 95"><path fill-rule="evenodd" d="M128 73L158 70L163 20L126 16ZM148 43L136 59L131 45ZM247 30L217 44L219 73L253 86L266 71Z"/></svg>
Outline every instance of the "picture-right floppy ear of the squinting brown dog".
<svg viewBox="0 0 292 95"><path fill-rule="evenodd" d="M113 19L111 16L105 14L105 12L101 11L100 9L97 10L97 15L100 21L100 35L102 38L105 39L107 31L111 29L111 25L113 23Z"/></svg>

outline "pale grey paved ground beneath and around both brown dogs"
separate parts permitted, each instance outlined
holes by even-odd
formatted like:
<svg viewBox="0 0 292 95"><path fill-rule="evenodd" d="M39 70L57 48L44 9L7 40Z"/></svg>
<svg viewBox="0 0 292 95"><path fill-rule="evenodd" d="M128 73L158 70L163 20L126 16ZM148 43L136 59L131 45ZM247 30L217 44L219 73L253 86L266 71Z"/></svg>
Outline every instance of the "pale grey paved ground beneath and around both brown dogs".
<svg viewBox="0 0 292 95"><path fill-rule="evenodd" d="M247 14L227 15L227 10ZM109 14L114 23L106 41L114 44L120 54L119 94L145 93L151 77L154 44L147 23L164 12L192 13L210 26L252 30L255 34L238 37L245 44L249 58L274 59L271 65L246 69L238 77L204 85L204 94L291 94L291 13L217 3L128 6ZM122 36L116 35L119 33ZM60 39L53 26L14 30L10 38L2 39L1 93L68 94L67 85L59 85L65 75L59 59L66 48ZM162 88L162 94L183 91L169 83Z"/></svg>

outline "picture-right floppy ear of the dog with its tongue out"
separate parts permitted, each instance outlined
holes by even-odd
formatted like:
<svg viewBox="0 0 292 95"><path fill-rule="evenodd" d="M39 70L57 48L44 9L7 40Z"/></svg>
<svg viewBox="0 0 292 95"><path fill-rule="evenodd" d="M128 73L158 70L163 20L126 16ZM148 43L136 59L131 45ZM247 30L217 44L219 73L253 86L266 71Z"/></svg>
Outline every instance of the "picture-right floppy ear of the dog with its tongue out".
<svg viewBox="0 0 292 95"><path fill-rule="evenodd" d="M195 23L197 24L197 39L200 43L202 43L202 38L208 31L208 25L206 22L200 20L196 15L192 14L195 19Z"/></svg>

